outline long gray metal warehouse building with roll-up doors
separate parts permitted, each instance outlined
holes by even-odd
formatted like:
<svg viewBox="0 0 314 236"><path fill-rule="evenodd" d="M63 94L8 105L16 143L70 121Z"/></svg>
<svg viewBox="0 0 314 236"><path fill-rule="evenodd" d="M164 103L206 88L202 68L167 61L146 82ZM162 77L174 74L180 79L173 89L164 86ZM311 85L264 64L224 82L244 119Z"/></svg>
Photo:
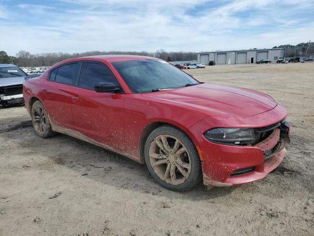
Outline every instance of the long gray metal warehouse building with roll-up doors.
<svg viewBox="0 0 314 236"><path fill-rule="evenodd" d="M209 61L214 61L217 64L243 64L256 63L257 60L269 59L272 63L278 58L284 56L283 48L271 49L250 49L250 50L235 50L235 51L214 51L197 54L197 61L209 64Z"/></svg>

